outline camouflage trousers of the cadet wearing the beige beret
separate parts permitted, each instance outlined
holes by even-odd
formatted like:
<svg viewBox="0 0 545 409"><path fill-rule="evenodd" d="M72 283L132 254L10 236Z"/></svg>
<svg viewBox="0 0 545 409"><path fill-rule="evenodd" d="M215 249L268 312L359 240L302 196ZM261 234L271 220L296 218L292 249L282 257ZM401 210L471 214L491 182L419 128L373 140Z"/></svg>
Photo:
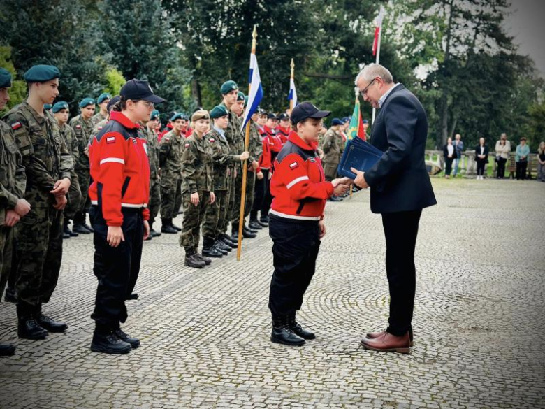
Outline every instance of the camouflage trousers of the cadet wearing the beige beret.
<svg viewBox="0 0 545 409"><path fill-rule="evenodd" d="M210 203L210 192L198 192L198 205L191 203L191 194L184 192L184 222L180 233L180 246L185 250L193 248L197 251L198 242L201 240L201 224L204 222L206 209Z"/></svg>

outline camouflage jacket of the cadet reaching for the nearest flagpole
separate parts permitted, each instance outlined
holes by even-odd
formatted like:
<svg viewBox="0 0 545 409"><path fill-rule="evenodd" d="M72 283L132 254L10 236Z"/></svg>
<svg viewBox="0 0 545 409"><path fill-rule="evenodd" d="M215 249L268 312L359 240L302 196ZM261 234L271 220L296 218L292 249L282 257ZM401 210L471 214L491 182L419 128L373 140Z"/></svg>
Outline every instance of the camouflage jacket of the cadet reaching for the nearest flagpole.
<svg viewBox="0 0 545 409"><path fill-rule="evenodd" d="M231 148L225 136L221 135L214 127L206 134L212 146L212 162L214 166L214 190L228 190L231 174L235 163L239 162L238 155L231 155Z"/></svg>

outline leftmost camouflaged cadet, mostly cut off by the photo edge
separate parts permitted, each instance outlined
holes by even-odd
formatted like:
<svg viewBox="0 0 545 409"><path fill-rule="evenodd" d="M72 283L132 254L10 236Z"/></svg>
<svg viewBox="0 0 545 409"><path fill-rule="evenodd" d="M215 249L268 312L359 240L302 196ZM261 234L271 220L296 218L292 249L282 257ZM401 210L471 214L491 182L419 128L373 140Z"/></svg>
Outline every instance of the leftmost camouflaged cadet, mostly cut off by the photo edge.
<svg viewBox="0 0 545 409"><path fill-rule="evenodd" d="M10 100L11 74L0 69L0 110ZM6 287L11 271L13 226L30 210L30 203L23 199L27 178L11 128L0 122L0 296ZM15 353L15 345L0 343L0 356Z"/></svg>

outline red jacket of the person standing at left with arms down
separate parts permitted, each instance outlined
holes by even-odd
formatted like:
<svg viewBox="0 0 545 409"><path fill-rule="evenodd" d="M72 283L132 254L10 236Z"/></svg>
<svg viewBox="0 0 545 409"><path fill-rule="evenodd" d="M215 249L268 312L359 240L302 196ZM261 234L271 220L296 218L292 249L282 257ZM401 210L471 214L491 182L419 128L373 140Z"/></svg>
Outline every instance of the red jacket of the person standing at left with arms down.
<svg viewBox="0 0 545 409"><path fill-rule="evenodd" d="M150 218L150 163L138 128L122 113L112 111L89 149L93 180L89 199L101 208L108 226L123 224L121 208L142 208L144 220Z"/></svg>

